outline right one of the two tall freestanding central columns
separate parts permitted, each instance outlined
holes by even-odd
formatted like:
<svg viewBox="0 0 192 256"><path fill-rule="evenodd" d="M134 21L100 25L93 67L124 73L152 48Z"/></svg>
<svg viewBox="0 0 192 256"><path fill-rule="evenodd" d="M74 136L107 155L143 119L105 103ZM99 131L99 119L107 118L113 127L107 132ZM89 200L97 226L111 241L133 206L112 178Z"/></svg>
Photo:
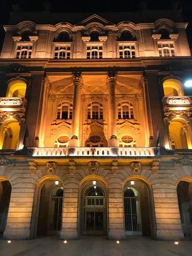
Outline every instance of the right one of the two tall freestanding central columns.
<svg viewBox="0 0 192 256"><path fill-rule="evenodd" d="M109 86L109 128L110 139L108 140L108 146L117 147L117 108L115 101L115 85L116 85L116 72L108 72L108 86Z"/></svg>

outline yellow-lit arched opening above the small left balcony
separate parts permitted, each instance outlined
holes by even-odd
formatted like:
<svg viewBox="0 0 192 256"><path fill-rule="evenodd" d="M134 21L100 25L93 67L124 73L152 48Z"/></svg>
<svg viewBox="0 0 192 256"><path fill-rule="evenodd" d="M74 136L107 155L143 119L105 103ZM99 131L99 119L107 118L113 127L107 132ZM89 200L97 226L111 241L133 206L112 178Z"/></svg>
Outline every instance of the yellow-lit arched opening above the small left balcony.
<svg viewBox="0 0 192 256"><path fill-rule="evenodd" d="M9 83L6 97L25 97L26 83L22 80L14 80Z"/></svg>

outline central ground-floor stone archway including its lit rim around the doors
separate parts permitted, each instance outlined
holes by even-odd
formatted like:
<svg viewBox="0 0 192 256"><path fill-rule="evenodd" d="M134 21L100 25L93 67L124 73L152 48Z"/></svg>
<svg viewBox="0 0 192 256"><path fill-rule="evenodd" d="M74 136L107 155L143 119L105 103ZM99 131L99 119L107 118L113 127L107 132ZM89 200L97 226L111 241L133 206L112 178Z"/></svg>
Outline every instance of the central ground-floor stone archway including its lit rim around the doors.
<svg viewBox="0 0 192 256"><path fill-rule="evenodd" d="M94 195L87 192L92 189ZM102 195L99 191L102 191ZM80 182L79 228L81 235L107 234L107 182L101 176L90 175Z"/></svg>

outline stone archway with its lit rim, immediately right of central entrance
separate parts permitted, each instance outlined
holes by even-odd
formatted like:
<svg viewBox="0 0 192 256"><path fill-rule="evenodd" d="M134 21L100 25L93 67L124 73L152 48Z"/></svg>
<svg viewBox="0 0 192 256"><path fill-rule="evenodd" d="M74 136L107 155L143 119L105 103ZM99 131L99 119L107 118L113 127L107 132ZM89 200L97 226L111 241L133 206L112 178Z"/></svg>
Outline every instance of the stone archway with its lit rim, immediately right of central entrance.
<svg viewBox="0 0 192 256"><path fill-rule="evenodd" d="M134 181L134 184L131 184L131 181ZM135 201L126 196L126 191L133 188L138 192ZM126 235L155 236L153 194L150 181L144 176L128 177L123 183L123 198ZM140 203L137 203L137 200ZM131 205L131 202L134 203L134 206ZM134 214L133 211L135 211Z"/></svg>

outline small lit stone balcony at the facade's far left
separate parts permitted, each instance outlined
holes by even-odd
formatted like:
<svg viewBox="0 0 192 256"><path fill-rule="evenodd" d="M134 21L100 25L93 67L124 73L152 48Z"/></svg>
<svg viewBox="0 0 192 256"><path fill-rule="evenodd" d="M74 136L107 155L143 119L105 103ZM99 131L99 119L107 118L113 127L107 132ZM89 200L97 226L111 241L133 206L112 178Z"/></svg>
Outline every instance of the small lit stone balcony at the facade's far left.
<svg viewBox="0 0 192 256"><path fill-rule="evenodd" d="M18 97L1 97L0 112L26 112L26 99Z"/></svg>

